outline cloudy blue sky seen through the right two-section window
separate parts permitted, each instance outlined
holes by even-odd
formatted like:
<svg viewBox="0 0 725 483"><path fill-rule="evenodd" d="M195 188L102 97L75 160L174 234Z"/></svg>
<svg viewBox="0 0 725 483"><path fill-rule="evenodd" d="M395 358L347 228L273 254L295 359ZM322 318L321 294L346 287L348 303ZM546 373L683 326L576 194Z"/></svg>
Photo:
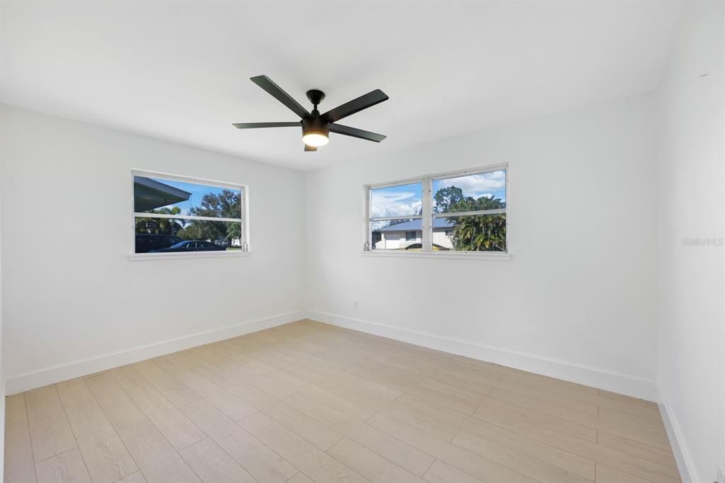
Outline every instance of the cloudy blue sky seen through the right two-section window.
<svg viewBox="0 0 725 483"><path fill-rule="evenodd" d="M492 171L459 178L433 181L433 194L439 189L457 186L465 197L495 197L506 201L506 171ZM434 200L435 203L435 200ZM370 192L370 217L417 215L423 206L423 184L412 183L389 188L377 188Z"/></svg>

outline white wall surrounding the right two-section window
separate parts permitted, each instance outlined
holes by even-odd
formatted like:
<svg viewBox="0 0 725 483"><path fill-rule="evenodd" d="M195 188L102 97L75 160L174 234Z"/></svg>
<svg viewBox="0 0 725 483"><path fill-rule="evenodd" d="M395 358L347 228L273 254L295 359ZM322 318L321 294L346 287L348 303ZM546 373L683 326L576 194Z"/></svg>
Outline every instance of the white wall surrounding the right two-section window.
<svg viewBox="0 0 725 483"><path fill-rule="evenodd" d="M309 173L312 316L653 399L653 116L645 94ZM364 183L500 162L510 261L361 255Z"/></svg>

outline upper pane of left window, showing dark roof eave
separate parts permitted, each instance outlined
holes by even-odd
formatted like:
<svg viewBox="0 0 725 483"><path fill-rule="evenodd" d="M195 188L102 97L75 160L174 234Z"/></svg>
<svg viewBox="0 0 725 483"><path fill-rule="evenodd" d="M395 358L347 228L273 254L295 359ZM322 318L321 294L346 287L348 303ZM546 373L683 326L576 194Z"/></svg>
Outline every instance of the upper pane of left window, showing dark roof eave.
<svg viewBox="0 0 725 483"><path fill-rule="evenodd" d="M137 213L241 218L241 189L133 176Z"/></svg>

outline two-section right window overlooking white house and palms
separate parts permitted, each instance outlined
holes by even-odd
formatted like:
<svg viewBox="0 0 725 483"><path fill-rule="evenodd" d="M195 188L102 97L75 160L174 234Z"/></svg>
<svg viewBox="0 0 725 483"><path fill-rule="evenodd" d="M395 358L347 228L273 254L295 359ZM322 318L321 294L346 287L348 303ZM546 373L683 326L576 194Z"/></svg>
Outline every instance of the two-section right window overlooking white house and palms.
<svg viewBox="0 0 725 483"><path fill-rule="evenodd" d="M506 189L505 165L367 186L366 247L506 253Z"/></svg>

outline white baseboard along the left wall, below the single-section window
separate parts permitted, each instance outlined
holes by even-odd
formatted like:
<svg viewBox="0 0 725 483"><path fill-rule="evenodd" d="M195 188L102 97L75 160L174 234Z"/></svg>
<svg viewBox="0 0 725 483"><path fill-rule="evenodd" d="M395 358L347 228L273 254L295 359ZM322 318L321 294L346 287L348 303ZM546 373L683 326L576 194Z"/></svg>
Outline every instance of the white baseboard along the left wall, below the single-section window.
<svg viewBox="0 0 725 483"><path fill-rule="evenodd" d="M285 323L299 321L302 318L305 318L305 310L297 310L295 312L282 313L254 321L242 322L222 329L215 329L200 334L178 337L177 339L136 347L135 349L124 350L122 352L101 355L93 359L78 360L75 363L65 364L64 366L55 366L41 371L11 377L5 381L5 389L7 395L13 395L18 392L28 391L29 389L36 389L37 387L43 387L48 384L66 381L67 379L106 371L107 369L118 366L125 366L125 364L136 363L139 360L155 358L159 355L170 354L171 352L177 352L190 347L230 339L231 337L269 329L270 327L281 326Z"/></svg>

